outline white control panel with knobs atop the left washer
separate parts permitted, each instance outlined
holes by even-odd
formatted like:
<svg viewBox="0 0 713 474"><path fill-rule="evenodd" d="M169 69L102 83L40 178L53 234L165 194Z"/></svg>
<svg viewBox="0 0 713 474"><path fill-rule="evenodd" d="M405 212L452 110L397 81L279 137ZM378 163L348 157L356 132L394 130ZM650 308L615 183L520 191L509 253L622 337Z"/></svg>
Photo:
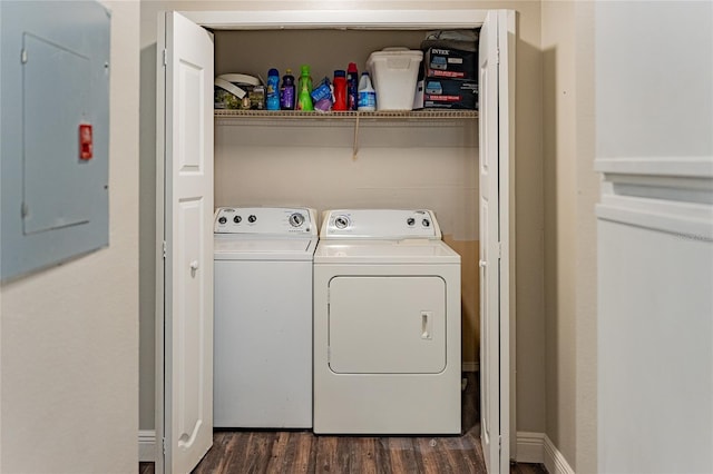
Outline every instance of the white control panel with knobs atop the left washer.
<svg viewBox="0 0 713 474"><path fill-rule="evenodd" d="M316 211L306 207L218 207L215 234L316 236Z"/></svg>

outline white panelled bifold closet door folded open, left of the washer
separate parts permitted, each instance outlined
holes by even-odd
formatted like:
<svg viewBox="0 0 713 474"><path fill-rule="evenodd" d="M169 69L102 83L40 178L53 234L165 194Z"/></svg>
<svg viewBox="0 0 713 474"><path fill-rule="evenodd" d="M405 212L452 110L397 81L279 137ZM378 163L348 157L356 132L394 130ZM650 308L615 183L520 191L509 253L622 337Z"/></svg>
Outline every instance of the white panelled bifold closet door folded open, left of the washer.
<svg viewBox="0 0 713 474"><path fill-rule="evenodd" d="M164 219L157 225L163 231L157 274L164 297L158 298L163 366L157 377L164 383L157 472L186 473L213 444L213 36L166 13L159 21L157 77L157 141L164 155L158 160Z"/></svg>

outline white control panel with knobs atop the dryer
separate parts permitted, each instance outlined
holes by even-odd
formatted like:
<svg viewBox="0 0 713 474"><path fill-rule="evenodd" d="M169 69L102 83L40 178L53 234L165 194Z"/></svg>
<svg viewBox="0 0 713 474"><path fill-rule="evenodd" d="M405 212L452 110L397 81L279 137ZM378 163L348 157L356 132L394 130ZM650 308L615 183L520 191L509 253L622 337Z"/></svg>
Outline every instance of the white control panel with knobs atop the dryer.
<svg viewBox="0 0 713 474"><path fill-rule="evenodd" d="M440 239L428 209L334 209L324 213L320 238Z"/></svg>

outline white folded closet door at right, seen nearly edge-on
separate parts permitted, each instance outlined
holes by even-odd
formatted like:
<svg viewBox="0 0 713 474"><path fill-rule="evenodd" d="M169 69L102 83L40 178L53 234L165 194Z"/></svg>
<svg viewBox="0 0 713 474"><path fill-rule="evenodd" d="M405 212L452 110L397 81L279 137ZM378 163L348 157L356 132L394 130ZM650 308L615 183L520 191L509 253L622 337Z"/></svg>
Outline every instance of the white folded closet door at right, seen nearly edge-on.
<svg viewBox="0 0 713 474"><path fill-rule="evenodd" d="M489 11L479 45L480 172L480 438L489 473L510 471L510 335L515 314L515 211L510 88L514 17Z"/></svg>

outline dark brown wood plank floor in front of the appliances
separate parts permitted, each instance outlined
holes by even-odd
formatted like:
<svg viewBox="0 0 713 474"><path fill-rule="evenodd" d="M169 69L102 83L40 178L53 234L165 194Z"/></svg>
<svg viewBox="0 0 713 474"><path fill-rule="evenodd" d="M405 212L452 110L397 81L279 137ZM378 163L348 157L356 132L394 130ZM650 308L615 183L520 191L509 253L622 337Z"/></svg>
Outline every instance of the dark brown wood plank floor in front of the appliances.
<svg viewBox="0 0 713 474"><path fill-rule="evenodd" d="M460 436L316 436L307 431L215 431L213 447L193 474L460 474L485 473L477 374L466 375ZM511 474L545 474L515 464ZM139 474L154 474L141 463Z"/></svg>

